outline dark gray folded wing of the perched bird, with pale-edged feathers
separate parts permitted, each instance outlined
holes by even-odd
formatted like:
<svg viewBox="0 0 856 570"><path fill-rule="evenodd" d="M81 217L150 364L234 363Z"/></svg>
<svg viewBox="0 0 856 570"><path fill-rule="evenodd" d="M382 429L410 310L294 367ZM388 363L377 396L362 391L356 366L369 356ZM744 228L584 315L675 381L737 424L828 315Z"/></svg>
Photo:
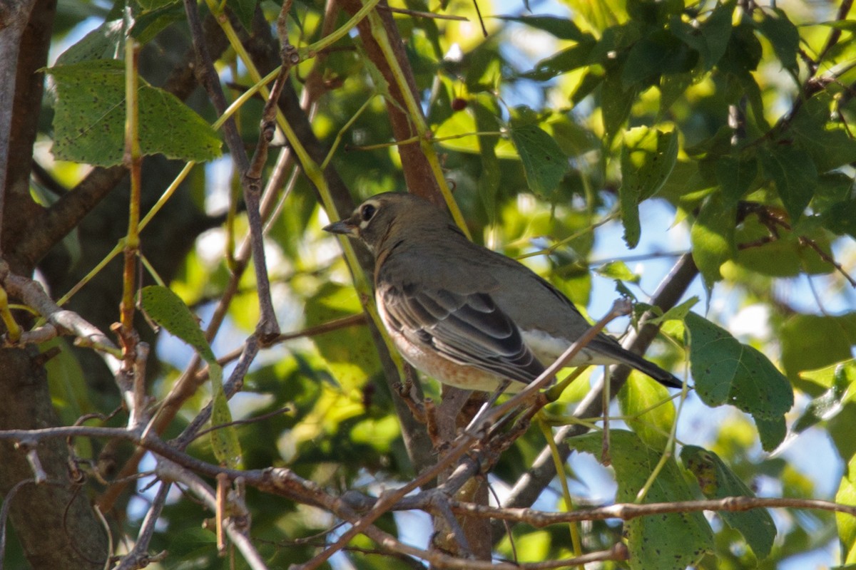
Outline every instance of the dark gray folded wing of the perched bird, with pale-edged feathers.
<svg viewBox="0 0 856 570"><path fill-rule="evenodd" d="M413 284L378 287L388 325L459 364L528 384L544 367L489 293Z"/></svg>

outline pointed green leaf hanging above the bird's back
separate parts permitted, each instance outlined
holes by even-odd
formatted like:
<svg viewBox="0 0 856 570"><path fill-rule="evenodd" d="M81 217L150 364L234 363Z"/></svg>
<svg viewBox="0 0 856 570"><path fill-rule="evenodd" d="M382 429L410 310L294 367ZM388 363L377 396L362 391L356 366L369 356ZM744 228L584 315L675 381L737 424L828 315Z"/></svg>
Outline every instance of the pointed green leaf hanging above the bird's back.
<svg viewBox="0 0 856 570"><path fill-rule="evenodd" d="M523 163L529 189L548 202L555 201L559 182L570 170L568 157L539 126L515 126L513 122L509 134Z"/></svg>

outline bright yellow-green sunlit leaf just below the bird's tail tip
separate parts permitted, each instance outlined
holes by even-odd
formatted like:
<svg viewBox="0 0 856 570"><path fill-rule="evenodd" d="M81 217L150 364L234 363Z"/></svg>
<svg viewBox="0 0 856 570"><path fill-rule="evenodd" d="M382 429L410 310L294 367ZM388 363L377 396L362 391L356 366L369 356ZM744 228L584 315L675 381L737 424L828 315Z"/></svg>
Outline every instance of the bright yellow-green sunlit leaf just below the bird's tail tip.
<svg viewBox="0 0 856 570"><path fill-rule="evenodd" d="M618 392L618 405L627 426L654 449L665 449L675 423L675 403L668 399L665 386L636 373Z"/></svg>

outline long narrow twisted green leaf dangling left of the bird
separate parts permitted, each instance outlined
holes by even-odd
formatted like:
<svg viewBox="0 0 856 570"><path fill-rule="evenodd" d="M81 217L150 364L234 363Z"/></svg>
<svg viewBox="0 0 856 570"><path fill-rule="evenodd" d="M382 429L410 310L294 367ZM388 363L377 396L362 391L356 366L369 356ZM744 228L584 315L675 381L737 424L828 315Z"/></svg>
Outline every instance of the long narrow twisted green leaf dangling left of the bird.
<svg viewBox="0 0 856 570"><path fill-rule="evenodd" d="M237 468L241 465L241 444L232 422L229 403L223 392L223 367L217 363L205 333L187 305L168 287L151 285L140 291L140 304L146 314L171 334L190 344L208 364L211 378L211 426L224 426L211 431L211 450L222 465Z"/></svg>

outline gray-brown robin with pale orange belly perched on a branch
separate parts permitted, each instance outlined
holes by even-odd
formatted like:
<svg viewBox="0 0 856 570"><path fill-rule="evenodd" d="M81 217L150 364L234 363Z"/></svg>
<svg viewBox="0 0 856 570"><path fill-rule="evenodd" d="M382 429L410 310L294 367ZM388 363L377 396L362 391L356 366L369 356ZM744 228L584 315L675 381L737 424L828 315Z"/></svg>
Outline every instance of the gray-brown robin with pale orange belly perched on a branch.
<svg viewBox="0 0 856 570"><path fill-rule="evenodd" d="M375 257L377 310L413 367L466 390L520 391L590 327L568 297L518 261L473 244L441 209L377 194L327 232ZM627 364L663 385L681 380L605 334L568 366Z"/></svg>

